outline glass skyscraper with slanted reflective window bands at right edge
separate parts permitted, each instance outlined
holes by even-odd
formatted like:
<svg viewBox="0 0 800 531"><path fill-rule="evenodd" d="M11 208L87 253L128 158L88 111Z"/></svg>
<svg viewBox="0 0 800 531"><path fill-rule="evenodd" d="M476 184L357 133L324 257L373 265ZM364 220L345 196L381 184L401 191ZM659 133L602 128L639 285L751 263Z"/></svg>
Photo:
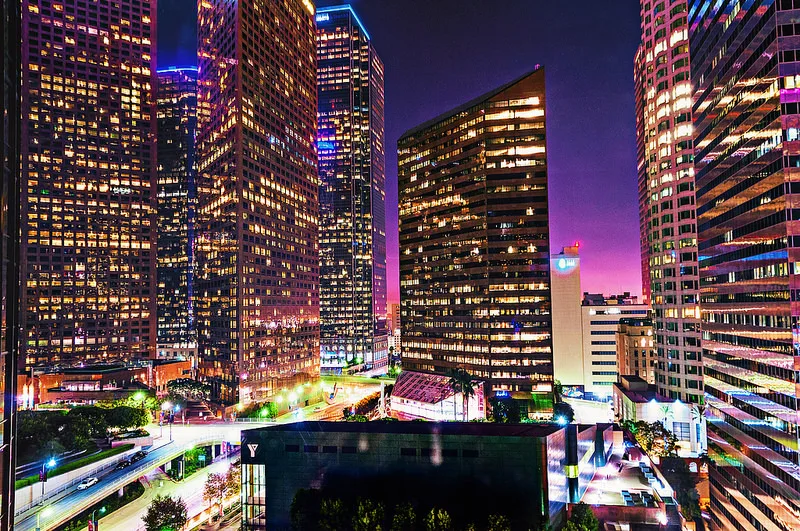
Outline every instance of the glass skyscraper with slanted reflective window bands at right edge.
<svg viewBox="0 0 800 531"><path fill-rule="evenodd" d="M800 529L800 2L689 2L711 516Z"/></svg>

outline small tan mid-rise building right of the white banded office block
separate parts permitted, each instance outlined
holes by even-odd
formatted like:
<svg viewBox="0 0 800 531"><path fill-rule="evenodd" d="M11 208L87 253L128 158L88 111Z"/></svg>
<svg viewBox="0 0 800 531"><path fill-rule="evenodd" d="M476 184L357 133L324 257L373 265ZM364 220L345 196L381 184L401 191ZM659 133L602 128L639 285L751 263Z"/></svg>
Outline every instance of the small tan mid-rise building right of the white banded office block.
<svg viewBox="0 0 800 531"><path fill-rule="evenodd" d="M616 334L617 371L656 383L657 351L653 344L653 321L626 317L619 320Z"/></svg>

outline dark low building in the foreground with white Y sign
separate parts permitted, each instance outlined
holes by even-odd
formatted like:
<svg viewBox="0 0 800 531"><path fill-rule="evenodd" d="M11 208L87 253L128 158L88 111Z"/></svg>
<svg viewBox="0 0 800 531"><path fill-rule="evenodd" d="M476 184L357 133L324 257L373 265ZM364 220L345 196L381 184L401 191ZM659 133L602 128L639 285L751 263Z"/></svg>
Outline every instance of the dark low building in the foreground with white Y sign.
<svg viewBox="0 0 800 531"><path fill-rule="evenodd" d="M585 490L580 478L594 475L597 459L582 457L606 454L610 432L608 425L455 422L303 422L247 430L243 529L289 528L301 489L345 504L368 498L384 505L387 518L404 502L418 516L443 508L457 528L481 527L490 514L504 514L514 528L558 525L567 503Z"/></svg>

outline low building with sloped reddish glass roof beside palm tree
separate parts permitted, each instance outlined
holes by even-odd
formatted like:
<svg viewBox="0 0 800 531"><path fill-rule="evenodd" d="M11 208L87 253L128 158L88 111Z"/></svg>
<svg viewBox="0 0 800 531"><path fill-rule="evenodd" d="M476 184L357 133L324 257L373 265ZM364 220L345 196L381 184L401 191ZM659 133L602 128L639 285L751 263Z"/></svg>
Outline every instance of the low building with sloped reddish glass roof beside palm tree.
<svg viewBox="0 0 800 531"><path fill-rule="evenodd" d="M392 416L400 420L476 420L486 418L483 382L476 382L466 411L464 406L464 395L453 391L448 376L403 371L392 389Z"/></svg>

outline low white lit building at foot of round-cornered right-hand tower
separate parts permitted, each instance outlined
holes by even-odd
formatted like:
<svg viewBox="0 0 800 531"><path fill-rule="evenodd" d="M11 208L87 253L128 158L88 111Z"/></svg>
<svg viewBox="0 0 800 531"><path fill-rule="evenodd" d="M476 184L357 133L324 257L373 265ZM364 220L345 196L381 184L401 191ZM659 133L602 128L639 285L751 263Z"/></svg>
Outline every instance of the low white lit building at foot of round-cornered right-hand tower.
<svg viewBox="0 0 800 531"><path fill-rule="evenodd" d="M697 456L707 448L702 410L696 404L660 395L639 376L621 375L613 386L614 420L661 422L678 437L680 453Z"/></svg>

